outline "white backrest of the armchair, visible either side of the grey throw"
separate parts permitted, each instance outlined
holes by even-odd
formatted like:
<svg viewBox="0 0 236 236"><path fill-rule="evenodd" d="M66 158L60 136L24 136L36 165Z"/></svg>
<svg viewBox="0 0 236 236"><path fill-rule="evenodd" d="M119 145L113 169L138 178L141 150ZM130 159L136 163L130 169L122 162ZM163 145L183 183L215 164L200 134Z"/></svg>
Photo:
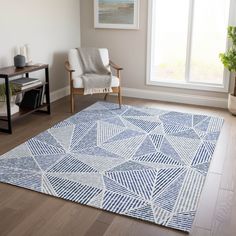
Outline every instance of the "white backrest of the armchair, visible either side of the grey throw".
<svg viewBox="0 0 236 236"><path fill-rule="evenodd" d="M99 48L99 52L104 66L110 70L108 49ZM76 48L69 50L68 61L70 63L71 69L75 71L74 73L72 73L72 78L74 79L76 77L80 77L83 74L83 67L79 56L79 52Z"/></svg>

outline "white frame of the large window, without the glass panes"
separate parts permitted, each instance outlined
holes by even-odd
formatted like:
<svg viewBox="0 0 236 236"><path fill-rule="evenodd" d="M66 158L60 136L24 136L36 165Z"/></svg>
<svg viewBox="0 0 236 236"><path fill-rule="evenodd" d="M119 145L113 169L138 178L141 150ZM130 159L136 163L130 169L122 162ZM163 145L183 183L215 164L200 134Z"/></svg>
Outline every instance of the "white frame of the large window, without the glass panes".
<svg viewBox="0 0 236 236"><path fill-rule="evenodd" d="M194 90L205 90L205 91L214 91L214 92L229 92L229 84L230 84L230 72L227 69L224 69L224 79L223 84L212 84L212 83L201 83L201 82L193 82L189 81L189 63L191 57L191 36L193 29L193 6L195 0L190 0L190 14L189 14L189 25L188 25L188 42L187 42L187 55L186 55L186 71L185 71L185 81L154 81L151 79L151 62L153 61L153 1L148 0L148 35L147 35L147 65L146 65L146 84L147 85L156 85L162 87L174 87L174 88L183 88L183 89L194 89ZM230 0L230 10L229 10L229 25L234 25L236 23L235 17L236 10L236 1ZM226 49L228 48L228 40L226 37ZM220 53L220 52L219 52Z"/></svg>

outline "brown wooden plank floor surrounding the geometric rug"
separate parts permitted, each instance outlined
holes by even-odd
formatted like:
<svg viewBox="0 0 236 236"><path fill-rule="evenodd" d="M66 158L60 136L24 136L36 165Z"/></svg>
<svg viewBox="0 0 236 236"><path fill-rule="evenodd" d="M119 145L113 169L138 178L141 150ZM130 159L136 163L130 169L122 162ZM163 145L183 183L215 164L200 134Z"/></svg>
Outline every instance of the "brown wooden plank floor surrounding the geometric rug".
<svg viewBox="0 0 236 236"><path fill-rule="evenodd" d="M98 98L101 99L101 98ZM110 101L115 101L110 97ZM77 111L96 97L82 97ZM204 113L225 118L190 235L236 235L236 117L225 110L125 98L125 104ZM68 98L52 104L52 115L32 114L14 123L14 134L0 133L0 154L69 117ZM185 233L107 213L33 191L0 184L0 235L177 236Z"/></svg>

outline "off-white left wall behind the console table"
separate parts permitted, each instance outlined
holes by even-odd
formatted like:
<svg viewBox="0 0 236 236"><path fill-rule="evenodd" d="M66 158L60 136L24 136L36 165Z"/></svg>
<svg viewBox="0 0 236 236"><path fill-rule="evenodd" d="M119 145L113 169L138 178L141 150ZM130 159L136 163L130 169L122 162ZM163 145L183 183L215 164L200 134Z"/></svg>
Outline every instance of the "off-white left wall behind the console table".
<svg viewBox="0 0 236 236"><path fill-rule="evenodd" d="M50 65L51 91L66 87L67 51L80 45L79 0L0 0L0 67L25 43L34 62Z"/></svg>

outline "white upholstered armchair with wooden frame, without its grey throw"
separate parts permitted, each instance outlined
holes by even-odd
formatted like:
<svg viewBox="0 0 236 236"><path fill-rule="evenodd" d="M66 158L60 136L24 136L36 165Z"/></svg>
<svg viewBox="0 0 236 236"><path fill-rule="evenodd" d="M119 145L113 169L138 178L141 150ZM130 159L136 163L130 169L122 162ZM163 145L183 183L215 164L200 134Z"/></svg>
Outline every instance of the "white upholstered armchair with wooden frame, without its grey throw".
<svg viewBox="0 0 236 236"><path fill-rule="evenodd" d="M119 106L121 107L122 97L120 89L120 71L123 69L109 59L108 49L99 48L99 52L104 66L109 70L111 70L111 68L116 70L116 75L112 75L111 87L113 91L112 93L118 94ZM71 112L73 113L75 110L74 95L84 94L83 81L81 78L81 75L83 74L83 67L77 49L70 49L68 53L68 60L65 62L65 68L68 72L68 77L70 80ZM105 95L105 100L107 95L108 94Z"/></svg>

